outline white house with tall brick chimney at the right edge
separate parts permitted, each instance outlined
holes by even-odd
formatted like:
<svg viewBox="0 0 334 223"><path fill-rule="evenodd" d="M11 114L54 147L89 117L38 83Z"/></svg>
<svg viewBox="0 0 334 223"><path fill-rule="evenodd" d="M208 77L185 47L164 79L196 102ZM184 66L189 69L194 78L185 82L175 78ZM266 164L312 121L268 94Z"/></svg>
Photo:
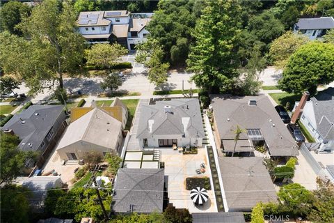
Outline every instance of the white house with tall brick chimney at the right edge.
<svg viewBox="0 0 334 223"><path fill-rule="evenodd" d="M319 151L334 152L334 89L320 91L308 101L308 93L303 93L300 102L294 105L292 121L296 119L305 126L315 141L321 143Z"/></svg>

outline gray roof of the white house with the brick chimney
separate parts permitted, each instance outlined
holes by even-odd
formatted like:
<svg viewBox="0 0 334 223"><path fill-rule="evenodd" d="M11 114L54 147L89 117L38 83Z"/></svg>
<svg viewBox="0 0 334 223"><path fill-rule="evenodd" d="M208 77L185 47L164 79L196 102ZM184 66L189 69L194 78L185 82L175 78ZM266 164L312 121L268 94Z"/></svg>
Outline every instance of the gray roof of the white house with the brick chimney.
<svg viewBox="0 0 334 223"><path fill-rule="evenodd" d="M311 98L317 130L324 139L334 139L334 100Z"/></svg>

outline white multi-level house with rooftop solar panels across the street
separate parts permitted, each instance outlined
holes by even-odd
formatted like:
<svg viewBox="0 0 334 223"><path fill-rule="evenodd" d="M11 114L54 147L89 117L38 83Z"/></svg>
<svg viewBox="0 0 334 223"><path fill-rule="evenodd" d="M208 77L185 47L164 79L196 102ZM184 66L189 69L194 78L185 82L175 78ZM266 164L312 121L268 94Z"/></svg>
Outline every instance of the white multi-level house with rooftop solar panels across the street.
<svg viewBox="0 0 334 223"><path fill-rule="evenodd" d="M152 13L130 14L127 10L81 12L79 32L88 43L117 42L129 50L148 37L145 29Z"/></svg>

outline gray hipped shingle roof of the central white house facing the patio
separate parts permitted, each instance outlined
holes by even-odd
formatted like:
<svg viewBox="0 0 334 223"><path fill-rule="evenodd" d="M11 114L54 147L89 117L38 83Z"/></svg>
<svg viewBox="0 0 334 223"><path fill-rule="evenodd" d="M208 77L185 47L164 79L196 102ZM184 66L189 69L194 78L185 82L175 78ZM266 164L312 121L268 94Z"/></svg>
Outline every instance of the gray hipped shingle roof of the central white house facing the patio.
<svg viewBox="0 0 334 223"><path fill-rule="evenodd" d="M165 112L164 106L169 105L171 112ZM186 127L182 121L189 122ZM150 130L149 121L152 124ZM172 99L157 101L155 105L143 105L138 124L138 139L145 139L154 135L180 134L186 137L204 137L200 104L195 99Z"/></svg>

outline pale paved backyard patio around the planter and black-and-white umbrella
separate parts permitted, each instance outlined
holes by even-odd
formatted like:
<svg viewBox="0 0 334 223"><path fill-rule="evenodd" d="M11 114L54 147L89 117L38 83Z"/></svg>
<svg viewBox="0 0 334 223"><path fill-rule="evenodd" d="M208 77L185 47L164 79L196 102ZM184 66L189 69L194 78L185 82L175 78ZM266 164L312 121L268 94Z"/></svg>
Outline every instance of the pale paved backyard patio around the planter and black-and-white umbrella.
<svg viewBox="0 0 334 223"><path fill-rule="evenodd" d="M217 212L212 174L209 168L207 152L205 148L198 148L198 154L183 155L172 148L163 148L161 151L161 162L165 164L165 176L168 176L166 186L168 199L175 208L188 208L190 213ZM200 164L205 164L205 173L196 174ZM190 198L190 190L186 190L186 178L208 177L212 190L207 190L209 200L202 206L195 206Z"/></svg>

